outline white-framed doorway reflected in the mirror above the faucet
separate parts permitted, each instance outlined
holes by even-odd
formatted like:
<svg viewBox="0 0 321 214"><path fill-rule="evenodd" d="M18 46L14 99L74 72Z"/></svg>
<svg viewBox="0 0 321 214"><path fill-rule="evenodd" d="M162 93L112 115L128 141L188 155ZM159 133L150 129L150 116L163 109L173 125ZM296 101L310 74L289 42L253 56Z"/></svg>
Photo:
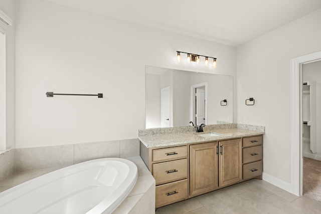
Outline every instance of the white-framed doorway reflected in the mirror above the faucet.
<svg viewBox="0 0 321 214"><path fill-rule="evenodd" d="M207 125L207 82L191 86L191 116L195 125Z"/></svg>

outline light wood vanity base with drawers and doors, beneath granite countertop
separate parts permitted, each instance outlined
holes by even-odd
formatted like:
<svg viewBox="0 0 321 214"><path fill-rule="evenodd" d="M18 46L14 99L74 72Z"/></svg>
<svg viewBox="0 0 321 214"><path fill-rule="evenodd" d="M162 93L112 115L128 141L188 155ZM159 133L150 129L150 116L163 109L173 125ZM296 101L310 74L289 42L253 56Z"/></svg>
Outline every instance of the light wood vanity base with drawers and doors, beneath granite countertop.
<svg viewBox="0 0 321 214"><path fill-rule="evenodd" d="M155 207L262 179L262 145L262 135L161 148L140 143L140 156L155 178Z"/></svg>

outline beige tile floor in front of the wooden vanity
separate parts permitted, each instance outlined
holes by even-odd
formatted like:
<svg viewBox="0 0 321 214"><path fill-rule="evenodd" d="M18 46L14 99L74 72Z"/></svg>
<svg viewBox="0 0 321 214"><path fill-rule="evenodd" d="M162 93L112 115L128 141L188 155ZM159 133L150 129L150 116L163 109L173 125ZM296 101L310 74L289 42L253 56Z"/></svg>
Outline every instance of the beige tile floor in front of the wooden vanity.
<svg viewBox="0 0 321 214"><path fill-rule="evenodd" d="M252 179L156 209L156 214L321 213L321 202Z"/></svg>

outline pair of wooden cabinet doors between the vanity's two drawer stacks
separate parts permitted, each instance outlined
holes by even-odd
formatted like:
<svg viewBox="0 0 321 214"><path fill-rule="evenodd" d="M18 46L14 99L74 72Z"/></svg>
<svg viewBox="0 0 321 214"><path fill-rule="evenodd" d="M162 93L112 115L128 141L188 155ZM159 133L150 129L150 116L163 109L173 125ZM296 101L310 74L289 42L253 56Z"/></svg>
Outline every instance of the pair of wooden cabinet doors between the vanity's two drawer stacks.
<svg viewBox="0 0 321 214"><path fill-rule="evenodd" d="M241 180L241 138L190 145L190 197Z"/></svg>

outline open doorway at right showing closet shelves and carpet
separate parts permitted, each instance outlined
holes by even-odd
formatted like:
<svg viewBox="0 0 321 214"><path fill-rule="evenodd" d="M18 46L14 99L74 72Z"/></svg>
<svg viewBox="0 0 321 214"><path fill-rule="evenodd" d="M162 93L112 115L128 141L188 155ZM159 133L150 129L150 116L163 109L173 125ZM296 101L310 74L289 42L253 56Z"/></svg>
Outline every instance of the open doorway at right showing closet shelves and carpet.
<svg viewBox="0 0 321 214"><path fill-rule="evenodd" d="M321 61L302 65L302 195L321 201Z"/></svg>

